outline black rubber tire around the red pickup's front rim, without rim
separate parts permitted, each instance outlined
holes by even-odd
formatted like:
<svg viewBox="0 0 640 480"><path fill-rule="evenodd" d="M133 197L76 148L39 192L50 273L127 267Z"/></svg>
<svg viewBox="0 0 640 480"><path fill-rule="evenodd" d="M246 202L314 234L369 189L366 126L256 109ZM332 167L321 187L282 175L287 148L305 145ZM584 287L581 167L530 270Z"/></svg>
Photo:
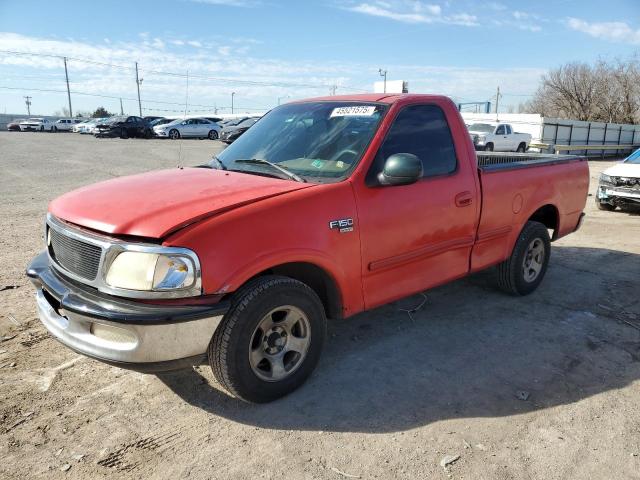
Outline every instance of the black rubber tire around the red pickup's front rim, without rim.
<svg viewBox="0 0 640 480"><path fill-rule="evenodd" d="M294 306L306 315L310 327L309 346L288 376L266 381L251 366L251 345L255 343L260 322L271 310L283 305ZM318 363L325 336L324 308L309 286L288 277L259 277L234 295L230 310L209 344L209 364L218 382L233 396L246 402L270 402L304 383Z"/></svg>

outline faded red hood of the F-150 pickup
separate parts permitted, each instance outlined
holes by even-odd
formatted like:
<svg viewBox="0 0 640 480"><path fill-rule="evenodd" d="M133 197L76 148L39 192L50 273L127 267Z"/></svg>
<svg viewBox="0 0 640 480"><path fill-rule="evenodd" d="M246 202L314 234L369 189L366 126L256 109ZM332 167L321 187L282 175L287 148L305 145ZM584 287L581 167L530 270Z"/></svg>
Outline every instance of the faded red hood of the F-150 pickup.
<svg viewBox="0 0 640 480"><path fill-rule="evenodd" d="M313 184L209 168L132 175L58 197L49 212L100 232L163 238L190 223Z"/></svg>

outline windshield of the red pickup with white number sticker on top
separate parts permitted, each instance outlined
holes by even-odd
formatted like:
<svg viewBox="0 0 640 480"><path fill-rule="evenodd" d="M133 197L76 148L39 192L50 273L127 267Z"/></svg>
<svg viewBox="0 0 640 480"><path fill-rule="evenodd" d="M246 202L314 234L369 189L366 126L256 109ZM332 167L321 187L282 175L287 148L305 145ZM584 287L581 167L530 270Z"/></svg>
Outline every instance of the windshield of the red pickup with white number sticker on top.
<svg viewBox="0 0 640 480"><path fill-rule="evenodd" d="M270 111L218 160L229 170L273 174L262 159L301 177L339 180L355 168L387 110L382 104L308 102ZM212 167L215 168L214 161Z"/></svg>

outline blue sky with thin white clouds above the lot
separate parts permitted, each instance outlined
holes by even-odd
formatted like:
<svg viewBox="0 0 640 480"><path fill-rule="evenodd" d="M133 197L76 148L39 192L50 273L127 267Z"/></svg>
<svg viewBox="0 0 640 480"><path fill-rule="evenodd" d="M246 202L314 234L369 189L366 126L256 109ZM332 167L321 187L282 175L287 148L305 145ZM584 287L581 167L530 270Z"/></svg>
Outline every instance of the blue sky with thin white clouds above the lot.
<svg viewBox="0 0 640 480"><path fill-rule="evenodd" d="M187 71L194 113L229 113L231 92L255 111L332 85L371 91L379 68L412 92L459 101L490 100L500 86L508 106L549 68L639 52L640 2L0 0L0 50L51 55L0 52L7 113L25 112L24 95L32 113L66 105L56 55L69 57L74 111L119 111L122 97L135 113L135 61L145 114L184 108Z"/></svg>

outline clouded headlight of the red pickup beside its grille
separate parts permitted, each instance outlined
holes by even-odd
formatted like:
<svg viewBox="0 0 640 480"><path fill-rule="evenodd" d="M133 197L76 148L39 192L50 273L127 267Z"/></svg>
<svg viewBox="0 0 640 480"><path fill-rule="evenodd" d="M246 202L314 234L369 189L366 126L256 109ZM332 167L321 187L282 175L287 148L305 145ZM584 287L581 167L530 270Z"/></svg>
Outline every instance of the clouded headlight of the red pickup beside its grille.
<svg viewBox="0 0 640 480"><path fill-rule="evenodd" d="M105 280L115 288L162 292L192 289L198 275L187 256L125 251L113 259Z"/></svg>

